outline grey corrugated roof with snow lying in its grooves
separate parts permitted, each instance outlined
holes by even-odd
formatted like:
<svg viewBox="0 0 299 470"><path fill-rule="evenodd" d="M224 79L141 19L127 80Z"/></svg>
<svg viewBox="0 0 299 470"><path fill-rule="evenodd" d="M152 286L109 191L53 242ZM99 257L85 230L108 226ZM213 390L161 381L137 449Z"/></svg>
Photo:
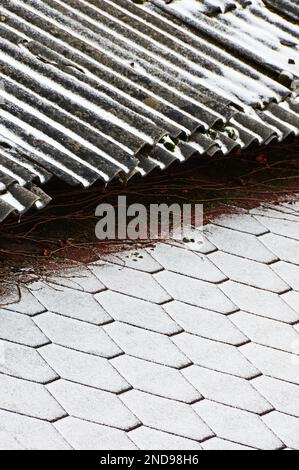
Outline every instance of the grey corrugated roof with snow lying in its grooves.
<svg viewBox="0 0 299 470"><path fill-rule="evenodd" d="M43 206L51 175L87 187L298 135L289 3L2 0L0 220Z"/></svg>

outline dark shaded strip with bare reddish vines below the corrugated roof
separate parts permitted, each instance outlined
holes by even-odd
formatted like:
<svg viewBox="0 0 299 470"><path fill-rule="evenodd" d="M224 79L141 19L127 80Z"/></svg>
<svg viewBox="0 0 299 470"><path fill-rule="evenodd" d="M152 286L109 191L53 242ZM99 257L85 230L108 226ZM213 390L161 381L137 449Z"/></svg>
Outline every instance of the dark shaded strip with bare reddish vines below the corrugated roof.
<svg viewBox="0 0 299 470"><path fill-rule="evenodd" d="M70 188L52 181L45 191L53 198L42 211L20 220L11 216L1 225L0 285L2 290L30 282L70 263L88 263L130 245L151 240L98 241L95 208L116 205L119 195L127 203L204 205L204 222L225 213L250 209L265 202L289 201L299 193L299 141L236 152L228 157L194 157L148 177L135 175L127 184L113 181L107 188Z"/></svg>

